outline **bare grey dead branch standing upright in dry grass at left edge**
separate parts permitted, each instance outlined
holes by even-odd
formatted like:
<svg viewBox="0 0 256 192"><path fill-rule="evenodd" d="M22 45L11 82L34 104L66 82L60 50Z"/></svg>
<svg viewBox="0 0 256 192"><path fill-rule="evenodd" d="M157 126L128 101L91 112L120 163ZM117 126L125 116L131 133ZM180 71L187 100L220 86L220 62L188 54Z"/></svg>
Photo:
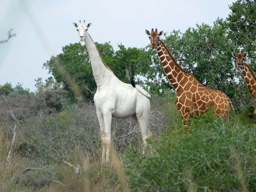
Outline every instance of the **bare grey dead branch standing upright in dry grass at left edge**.
<svg viewBox="0 0 256 192"><path fill-rule="evenodd" d="M7 156L7 164L8 165L11 165L12 163L12 157L13 157L13 152L14 152L14 146L15 146L15 141L16 141L16 134L17 134L17 125L18 125L18 120L16 119L16 117L14 116L13 112L12 112L12 109L8 103L8 100L7 98L2 95L2 98L4 98L5 100L5 103L7 104L10 112L11 112L11 115L12 115L12 118L14 119L14 122L15 122L15 125L14 125L14 129L13 129L13 137L12 137L12 145L10 147L10 150L9 150L9 153L8 153L8 156Z"/></svg>

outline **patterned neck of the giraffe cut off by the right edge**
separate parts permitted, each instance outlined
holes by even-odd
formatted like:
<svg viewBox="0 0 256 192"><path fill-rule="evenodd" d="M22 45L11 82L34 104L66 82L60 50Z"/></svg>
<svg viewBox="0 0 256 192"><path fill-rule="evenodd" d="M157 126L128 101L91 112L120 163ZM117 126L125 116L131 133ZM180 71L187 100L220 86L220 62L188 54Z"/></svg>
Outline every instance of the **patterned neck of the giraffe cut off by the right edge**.
<svg viewBox="0 0 256 192"><path fill-rule="evenodd" d="M244 75L244 81L247 84L247 88L256 101L256 76L247 63L244 63L241 69Z"/></svg>

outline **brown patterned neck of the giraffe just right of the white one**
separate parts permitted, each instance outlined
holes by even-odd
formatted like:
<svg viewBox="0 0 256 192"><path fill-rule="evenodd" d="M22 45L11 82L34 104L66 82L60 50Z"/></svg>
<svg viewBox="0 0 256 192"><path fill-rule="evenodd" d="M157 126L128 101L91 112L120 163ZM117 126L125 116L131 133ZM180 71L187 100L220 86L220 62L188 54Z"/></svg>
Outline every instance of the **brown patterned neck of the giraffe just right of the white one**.
<svg viewBox="0 0 256 192"><path fill-rule="evenodd" d="M184 76L192 75L181 68L181 66L172 57L172 54L160 39L157 44L156 51L164 67L167 78L173 85L174 89L178 91L179 88L184 87Z"/></svg>

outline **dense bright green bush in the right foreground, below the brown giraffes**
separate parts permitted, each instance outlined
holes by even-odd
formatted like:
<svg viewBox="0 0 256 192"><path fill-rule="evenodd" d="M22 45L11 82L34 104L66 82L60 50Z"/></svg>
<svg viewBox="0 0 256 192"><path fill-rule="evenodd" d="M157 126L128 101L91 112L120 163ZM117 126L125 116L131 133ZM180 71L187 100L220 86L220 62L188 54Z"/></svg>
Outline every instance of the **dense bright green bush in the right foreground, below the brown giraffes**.
<svg viewBox="0 0 256 192"><path fill-rule="evenodd" d="M254 191L255 126L231 122L228 125L218 117L212 119L208 123L204 121L203 128L193 128L191 135L179 135L172 140L166 137L152 147L154 153L127 150L124 169L130 188L133 191L240 191L247 187ZM241 165L242 174L237 165ZM246 180L245 184L241 178Z"/></svg>

